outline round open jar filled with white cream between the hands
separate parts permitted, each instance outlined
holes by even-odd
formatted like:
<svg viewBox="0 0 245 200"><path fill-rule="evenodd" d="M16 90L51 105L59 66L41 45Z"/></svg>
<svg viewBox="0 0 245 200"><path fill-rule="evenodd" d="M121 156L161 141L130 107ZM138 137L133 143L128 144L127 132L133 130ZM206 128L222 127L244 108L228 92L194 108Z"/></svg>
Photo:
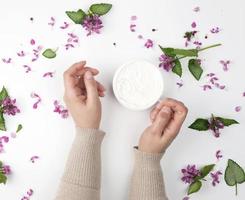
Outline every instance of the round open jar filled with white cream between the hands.
<svg viewBox="0 0 245 200"><path fill-rule="evenodd" d="M150 108L160 99L163 89L160 70L144 60L122 65L113 78L113 91L117 100L131 110Z"/></svg>

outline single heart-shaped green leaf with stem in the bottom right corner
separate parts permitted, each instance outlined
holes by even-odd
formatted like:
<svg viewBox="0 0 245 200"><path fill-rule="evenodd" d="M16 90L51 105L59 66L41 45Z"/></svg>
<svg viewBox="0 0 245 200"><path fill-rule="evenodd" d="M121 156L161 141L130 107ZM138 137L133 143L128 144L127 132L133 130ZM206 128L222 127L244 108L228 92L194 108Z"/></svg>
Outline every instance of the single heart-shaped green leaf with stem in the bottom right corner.
<svg viewBox="0 0 245 200"><path fill-rule="evenodd" d="M239 166L235 161L229 159L225 170L225 182L228 186L236 187L237 195L237 185L245 182L245 172L241 166Z"/></svg>

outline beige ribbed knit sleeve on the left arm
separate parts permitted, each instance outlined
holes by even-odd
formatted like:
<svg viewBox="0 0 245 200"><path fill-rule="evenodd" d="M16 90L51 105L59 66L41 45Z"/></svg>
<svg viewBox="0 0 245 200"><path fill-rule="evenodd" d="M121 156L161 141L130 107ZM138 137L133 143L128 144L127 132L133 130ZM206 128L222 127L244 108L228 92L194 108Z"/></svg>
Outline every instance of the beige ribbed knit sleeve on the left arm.
<svg viewBox="0 0 245 200"><path fill-rule="evenodd" d="M99 200L101 142L104 132L76 128L63 178L55 200Z"/></svg>

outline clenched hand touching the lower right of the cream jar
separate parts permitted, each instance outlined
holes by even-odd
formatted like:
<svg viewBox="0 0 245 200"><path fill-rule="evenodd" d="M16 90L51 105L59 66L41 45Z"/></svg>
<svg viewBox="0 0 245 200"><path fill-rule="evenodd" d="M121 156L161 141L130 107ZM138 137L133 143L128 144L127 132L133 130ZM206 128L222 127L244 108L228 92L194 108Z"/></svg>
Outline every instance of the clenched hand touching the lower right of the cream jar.
<svg viewBox="0 0 245 200"><path fill-rule="evenodd" d="M188 109L174 99L158 103L151 111L152 124L146 128L139 141L139 150L147 153L162 153L178 135Z"/></svg>

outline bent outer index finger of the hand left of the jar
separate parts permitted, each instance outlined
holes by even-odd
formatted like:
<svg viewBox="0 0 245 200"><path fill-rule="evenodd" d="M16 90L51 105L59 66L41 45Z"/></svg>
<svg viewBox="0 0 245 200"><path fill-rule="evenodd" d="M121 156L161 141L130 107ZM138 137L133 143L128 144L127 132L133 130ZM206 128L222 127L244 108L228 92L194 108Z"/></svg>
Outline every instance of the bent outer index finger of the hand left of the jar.
<svg viewBox="0 0 245 200"><path fill-rule="evenodd" d="M76 86L77 80L75 76L79 70L82 70L86 62L81 61L72 65L68 70L64 72L64 85L67 90L72 89Z"/></svg>

